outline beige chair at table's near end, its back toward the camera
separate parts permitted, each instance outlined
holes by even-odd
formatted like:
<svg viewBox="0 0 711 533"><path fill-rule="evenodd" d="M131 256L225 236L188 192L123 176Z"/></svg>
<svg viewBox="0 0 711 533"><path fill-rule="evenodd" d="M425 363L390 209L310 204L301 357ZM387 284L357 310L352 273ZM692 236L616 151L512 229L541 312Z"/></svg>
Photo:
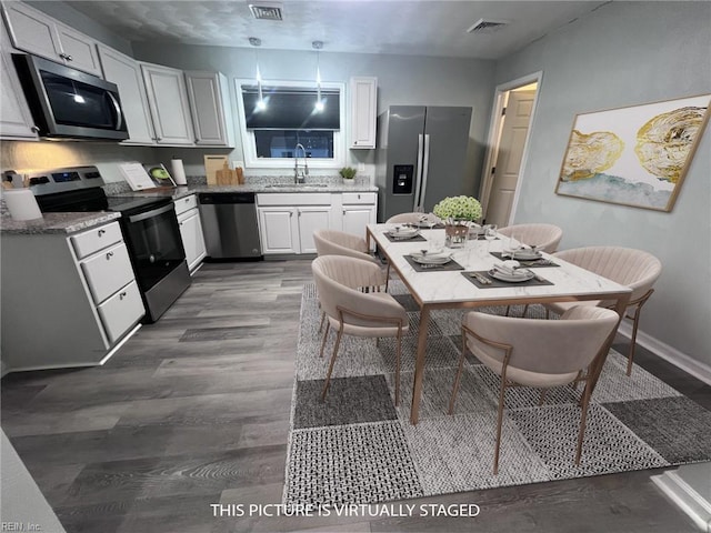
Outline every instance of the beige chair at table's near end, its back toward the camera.
<svg viewBox="0 0 711 533"><path fill-rule="evenodd" d="M501 425L505 392L510 386L542 389L585 382L582 393L575 465L580 464L590 403L591 364L613 334L618 314L609 309L578 305L561 320L537 320L470 312L462 323L462 354L459 360L449 413L454 412L467 348L487 368L501 376L493 473L499 473Z"/></svg>

